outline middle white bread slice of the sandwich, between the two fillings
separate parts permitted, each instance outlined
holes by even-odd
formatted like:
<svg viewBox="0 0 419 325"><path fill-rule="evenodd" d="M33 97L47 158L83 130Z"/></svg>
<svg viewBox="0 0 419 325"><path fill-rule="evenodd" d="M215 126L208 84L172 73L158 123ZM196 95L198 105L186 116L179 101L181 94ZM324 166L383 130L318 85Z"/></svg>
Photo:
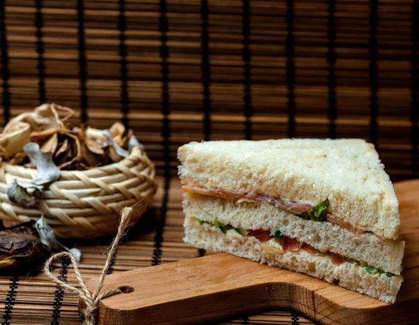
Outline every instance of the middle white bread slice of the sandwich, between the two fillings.
<svg viewBox="0 0 419 325"><path fill-rule="evenodd" d="M385 272L400 274L404 241L382 241L371 233L354 234L332 222L303 220L270 204L235 203L207 195L183 194L186 216L211 222L215 219L235 228L265 229L308 243L321 252L335 252Z"/></svg>

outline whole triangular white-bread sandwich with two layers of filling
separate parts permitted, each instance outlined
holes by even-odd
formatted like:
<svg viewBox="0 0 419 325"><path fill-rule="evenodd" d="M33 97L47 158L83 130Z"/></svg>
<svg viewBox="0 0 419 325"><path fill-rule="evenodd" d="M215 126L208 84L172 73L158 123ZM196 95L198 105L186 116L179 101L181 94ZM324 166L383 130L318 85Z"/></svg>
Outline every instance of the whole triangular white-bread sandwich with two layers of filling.
<svg viewBox="0 0 419 325"><path fill-rule="evenodd" d="M178 158L186 243L395 302L404 241L395 191L374 145L191 142Z"/></svg>

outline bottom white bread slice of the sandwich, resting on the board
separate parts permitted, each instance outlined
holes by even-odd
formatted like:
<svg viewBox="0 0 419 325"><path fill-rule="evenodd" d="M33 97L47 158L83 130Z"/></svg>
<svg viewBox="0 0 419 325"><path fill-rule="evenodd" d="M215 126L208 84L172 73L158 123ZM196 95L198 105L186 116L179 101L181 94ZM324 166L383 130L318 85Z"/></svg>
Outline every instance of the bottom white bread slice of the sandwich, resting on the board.
<svg viewBox="0 0 419 325"><path fill-rule="evenodd" d="M400 275L389 278L382 273L370 274L365 267L360 267L358 264L344 262L336 265L325 253L312 255L302 249L284 251L274 239L261 242L254 236L242 236L234 229L224 234L219 227L200 225L193 217L186 217L184 229L184 241L197 248L228 252L262 264L311 275L380 299L385 303L395 302L403 282Z"/></svg>

